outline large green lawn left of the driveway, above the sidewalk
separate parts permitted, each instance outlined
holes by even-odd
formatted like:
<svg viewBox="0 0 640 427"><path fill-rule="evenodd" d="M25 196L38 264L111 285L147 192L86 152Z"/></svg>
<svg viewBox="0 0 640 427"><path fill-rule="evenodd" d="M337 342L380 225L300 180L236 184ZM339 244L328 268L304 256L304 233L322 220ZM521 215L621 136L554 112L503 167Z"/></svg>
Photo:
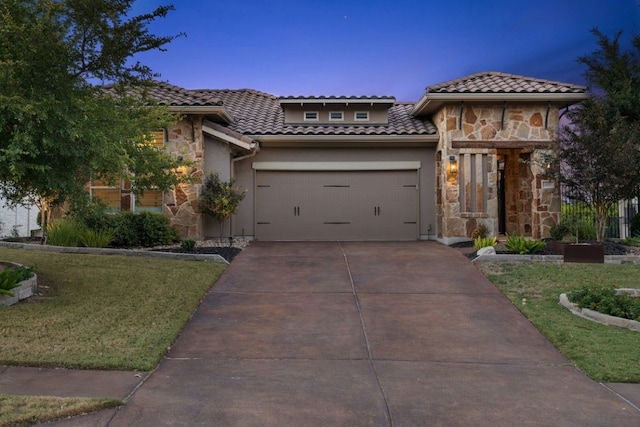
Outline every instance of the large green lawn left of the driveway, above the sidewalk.
<svg viewBox="0 0 640 427"><path fill-rule="evenodd" d="M149 371L224 265L0 248L44 295L0 308L0 365Z"/></svg>

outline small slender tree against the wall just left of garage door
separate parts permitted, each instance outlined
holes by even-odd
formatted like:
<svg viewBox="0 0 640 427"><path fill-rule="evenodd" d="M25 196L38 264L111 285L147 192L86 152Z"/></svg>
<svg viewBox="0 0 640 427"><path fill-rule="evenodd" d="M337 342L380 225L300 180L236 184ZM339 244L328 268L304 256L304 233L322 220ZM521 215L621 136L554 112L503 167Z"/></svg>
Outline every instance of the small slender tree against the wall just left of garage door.
<svg viewBox="0 0 640 427"><path fill-rule="evenodd" d="M217 172L210 173L198 196L198 209L218 221L221 238L224 221L237 212L238 205L246 195L245 191L240 191L233 184L233 180L222 181Z"/></svg>

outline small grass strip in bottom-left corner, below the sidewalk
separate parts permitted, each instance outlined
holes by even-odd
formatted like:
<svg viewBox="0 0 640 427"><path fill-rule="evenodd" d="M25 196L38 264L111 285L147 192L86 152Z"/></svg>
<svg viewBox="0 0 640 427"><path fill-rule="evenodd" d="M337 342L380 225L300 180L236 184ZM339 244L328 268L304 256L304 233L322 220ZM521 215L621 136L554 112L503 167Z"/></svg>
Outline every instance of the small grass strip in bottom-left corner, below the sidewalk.
<svg viewBox="0 0 640 427"><path fill-rule="evenodd" d="M118 399L10 396L0 394L0 427L31 426L122 405Z"/></svg>

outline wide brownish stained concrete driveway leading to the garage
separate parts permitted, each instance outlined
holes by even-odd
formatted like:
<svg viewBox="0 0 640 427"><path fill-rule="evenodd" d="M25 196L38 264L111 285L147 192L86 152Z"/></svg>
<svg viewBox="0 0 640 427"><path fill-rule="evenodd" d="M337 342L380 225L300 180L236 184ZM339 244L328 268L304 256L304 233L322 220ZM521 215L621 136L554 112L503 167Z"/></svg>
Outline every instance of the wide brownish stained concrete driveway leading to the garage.
<svg viewBox="0 0 640 427"><path fill-rule="evenodd" d="M92 425L640 425L434 242L252 243L103 418Z"/></svg>

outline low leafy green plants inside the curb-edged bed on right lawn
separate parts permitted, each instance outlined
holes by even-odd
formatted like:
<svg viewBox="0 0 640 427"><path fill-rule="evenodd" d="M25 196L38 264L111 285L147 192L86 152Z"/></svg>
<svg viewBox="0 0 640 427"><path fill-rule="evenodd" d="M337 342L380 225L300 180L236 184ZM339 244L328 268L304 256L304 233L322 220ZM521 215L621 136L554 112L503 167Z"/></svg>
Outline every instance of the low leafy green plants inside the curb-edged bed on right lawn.
<svg viewBox="0 0 640 427"><path fill-rule="evenodd" d="M583 286L569 292L567 298L580 308L640 321L640 298L627 294L616 295L613 285Z"/></svg>

